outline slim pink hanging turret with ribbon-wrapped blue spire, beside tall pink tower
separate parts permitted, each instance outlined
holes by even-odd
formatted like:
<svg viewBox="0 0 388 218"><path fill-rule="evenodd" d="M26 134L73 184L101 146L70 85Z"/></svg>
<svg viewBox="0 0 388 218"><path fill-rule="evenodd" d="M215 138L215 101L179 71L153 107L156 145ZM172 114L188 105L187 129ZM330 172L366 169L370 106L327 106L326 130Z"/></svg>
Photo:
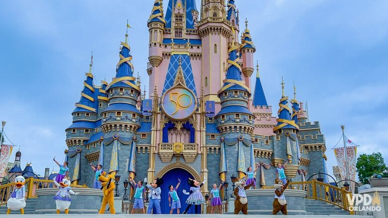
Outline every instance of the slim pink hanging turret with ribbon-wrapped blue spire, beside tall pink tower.
<svg viewBox="0 0 388 218"><path fill-rule="evenodd" d="M248 29L248 20L245 19L245 31L242 36L241 42L241 55L243 59L242 71L245 76L245 84L251 88L251 75L253 73L253 53L256 52L255 45L253 44L251 34Z"/></svg>

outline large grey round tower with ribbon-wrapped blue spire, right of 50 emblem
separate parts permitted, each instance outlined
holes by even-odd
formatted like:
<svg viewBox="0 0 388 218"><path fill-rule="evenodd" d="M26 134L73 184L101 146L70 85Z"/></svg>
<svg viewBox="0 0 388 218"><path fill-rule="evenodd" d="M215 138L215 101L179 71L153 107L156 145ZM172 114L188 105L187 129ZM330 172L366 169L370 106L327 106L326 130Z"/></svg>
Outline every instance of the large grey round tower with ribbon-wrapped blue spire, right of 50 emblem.
<svg viewBox="0 0 388 218"><path fill-rule="evenodd" d="M238 49L238 45L232 41L226 79L218 91L221 110L215 116L217 129L226 144L224 149L227 170L224 179L230 178L232 173L237 174L239 178L245 176L246 166L250 164L249 146L252 145L251 135L254 129L254 116L248 110L251 91L241 78L241 67L237 64Z"/></svg>

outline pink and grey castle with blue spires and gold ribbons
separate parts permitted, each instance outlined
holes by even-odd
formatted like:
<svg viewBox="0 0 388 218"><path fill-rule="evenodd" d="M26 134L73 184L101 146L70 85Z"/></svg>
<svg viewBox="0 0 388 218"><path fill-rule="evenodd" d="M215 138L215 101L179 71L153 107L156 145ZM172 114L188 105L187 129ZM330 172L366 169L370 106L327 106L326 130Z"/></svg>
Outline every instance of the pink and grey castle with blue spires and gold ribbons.
<svg viewBox="0 0 388 218"><path fill-rule="evenodd" d="M151 7L149 96L133 75L126 34L115 77L96 85L91 65L72 112L65 152L73 184L93 184L90 163L120 175L120 182L163 178L162 195L177 178L188 177L206 177L208 193L221 178L231 184L231 176L243 177L255 165L257 188L272 186L277 163L287 160L291 181L326 172L319 123L307 122L303 104L295 91L289 99L284 82L273 116L253 61L248 21L240 26L235 0L201 0L200 11L195 0L155 0Z"/></svg>

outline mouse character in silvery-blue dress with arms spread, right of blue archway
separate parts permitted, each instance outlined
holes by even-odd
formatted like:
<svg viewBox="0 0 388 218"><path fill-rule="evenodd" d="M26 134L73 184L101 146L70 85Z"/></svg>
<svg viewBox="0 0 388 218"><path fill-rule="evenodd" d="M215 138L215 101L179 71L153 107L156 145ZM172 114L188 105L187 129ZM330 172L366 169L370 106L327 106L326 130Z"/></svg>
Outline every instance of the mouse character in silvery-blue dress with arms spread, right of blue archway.
<svg viewBox="0 0 388 218"><path fill-rule="evenodd" d="M191 179L191 178L189 178L187 182L192 187L190 187L190 192L186 192L185 189L183 190L183 194L190 195L190 196L186 200L186 203L188 204L188 206L182 214L186 214L192 205L195 206L195 211L198 211L198 206L205 203L205 199L203 199L200 189L202 185L206 183L206 177L203 177L202 183L199 183L195 179Z"/></svg>

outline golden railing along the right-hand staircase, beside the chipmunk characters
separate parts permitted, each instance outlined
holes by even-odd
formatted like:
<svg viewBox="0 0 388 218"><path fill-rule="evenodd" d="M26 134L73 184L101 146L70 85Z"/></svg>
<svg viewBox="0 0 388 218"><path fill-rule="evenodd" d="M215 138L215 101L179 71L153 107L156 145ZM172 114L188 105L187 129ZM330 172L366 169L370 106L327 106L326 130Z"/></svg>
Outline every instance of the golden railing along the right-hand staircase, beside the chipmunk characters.
<svg viewBox="0 0 388 218"><path fill-rule="evenodd" d="M351 215L354 214L353 211L349 210L352 205L349 204L346 197L347 195L352 197L352 192L346 191L345 188L339 188L313 179L307 182L290 182L289 189L304 190L307 192L307 199L324 201L348 211Z"/></svg>

